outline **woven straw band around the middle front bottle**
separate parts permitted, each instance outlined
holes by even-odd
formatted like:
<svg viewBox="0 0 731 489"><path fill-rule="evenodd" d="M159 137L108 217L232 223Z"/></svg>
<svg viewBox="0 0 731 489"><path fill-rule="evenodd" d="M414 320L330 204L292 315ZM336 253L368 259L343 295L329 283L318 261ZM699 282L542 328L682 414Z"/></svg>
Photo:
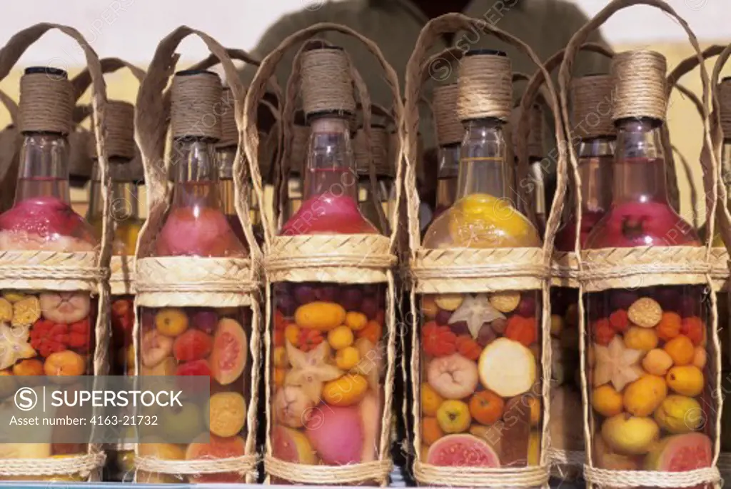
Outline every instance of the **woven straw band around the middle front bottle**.
<svg viewBox="0 0 731 489"><path fill-rule="evenodd" d="M273 238L265 268L270 281L373 284L395 265L382 235L300 235Z"/></svg>

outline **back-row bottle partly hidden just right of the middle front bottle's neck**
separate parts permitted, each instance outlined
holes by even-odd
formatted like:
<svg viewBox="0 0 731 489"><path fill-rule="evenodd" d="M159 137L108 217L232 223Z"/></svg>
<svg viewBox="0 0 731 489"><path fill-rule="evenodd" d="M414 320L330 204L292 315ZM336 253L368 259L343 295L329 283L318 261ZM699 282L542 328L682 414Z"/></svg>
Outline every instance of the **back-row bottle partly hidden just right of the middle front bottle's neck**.
<svg viewBox="0 0 731 489"><path fill-rule="evenodd" d="M388 133L385 126L371 125L371 156L374 158L376 170L376 188L371 184L371 176L368 170L368 152L365 151L365 140L363 129L359 129L355 136L355 160L358 173L358 207L363 216L371 221L383 235L388 235L388 229L382 229L378 209L374 202L373 195L376 194L379 204L383 209L383 215L388 217L389 198L393 186L393 175L388 171L387 158Z"/></svg>

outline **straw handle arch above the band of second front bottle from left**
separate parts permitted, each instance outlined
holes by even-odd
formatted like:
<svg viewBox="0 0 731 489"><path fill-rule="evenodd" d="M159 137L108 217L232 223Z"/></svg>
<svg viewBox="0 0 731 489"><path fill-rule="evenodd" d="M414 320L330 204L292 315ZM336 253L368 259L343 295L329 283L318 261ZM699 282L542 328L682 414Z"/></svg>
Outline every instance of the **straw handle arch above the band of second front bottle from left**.
<svg viewBox="0 0 731 489"><path fill-rule="evenodd" d="M167 133L166 110L164 107L163 90L170 81L175 69L175 62L178 56L175 49L183 39L194 34L199 37L211 51L213 56L219 59L221 66L227 76L232 94L234 96L234 110L236 115L236 126L239 130L239 141L234 159L233 177L235 208L238 218L243 226L243 232L249 245L252 262L257 262L261 257L261 250L254 238L254 231L249 216L249 202L243 199L245 183L245 164L242 158L241 148L241 103L244 96L244 88L241 83L236 67L228 56L227 51L216 42L213 37L202 31L191 29L187 26L178 27L167 35L155 50L154 58L148 68L148 74L143 80L140 90L137 92L137 103L135 107L135 140L140 147L145 170L145 182L148 187L148 220L145 221L140 236L137 240L137 251L135 256L149 256L150 248L154 242L155 233L162 227L164 213L167 211L167 201L170 196L170 189L167 186L167 170L164 162L164 147ZM169 104L167 104L169 106ZM254 188L257 190L259 202L264 202L262 196L262 183L259 167L249 162L248 168Z"/></svg>

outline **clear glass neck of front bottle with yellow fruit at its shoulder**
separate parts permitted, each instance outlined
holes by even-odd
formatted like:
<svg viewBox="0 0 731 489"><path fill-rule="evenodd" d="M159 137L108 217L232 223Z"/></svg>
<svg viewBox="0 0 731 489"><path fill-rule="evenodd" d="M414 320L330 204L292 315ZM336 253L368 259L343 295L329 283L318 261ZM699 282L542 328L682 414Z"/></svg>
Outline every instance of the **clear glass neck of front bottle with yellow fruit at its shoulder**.
<svg viewBox="0 0 731 489"><path fill-rule="evenodd" d="M503 122L482 119L466 123L461 147L457 199L470 194L490 194L498 199L507 197L505 171L506 143Z"/></svg>

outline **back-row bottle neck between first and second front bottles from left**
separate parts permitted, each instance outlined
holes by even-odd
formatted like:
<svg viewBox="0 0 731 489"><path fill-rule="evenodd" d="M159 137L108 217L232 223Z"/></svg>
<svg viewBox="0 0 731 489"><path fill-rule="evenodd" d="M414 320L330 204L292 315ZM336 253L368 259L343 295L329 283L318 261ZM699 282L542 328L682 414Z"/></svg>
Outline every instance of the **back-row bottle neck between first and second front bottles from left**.
<svg viewBox="0 0 731 489"><path fill-rule="evenodd" d="M137 182L129 176L128 158L112 156L109 159L110 193L113 219L140 219L140 197ZM89 221L102 219L104 205L102 201L102 182L99 165L94 162L89 188L89 208L86 218Z"/></svg>

